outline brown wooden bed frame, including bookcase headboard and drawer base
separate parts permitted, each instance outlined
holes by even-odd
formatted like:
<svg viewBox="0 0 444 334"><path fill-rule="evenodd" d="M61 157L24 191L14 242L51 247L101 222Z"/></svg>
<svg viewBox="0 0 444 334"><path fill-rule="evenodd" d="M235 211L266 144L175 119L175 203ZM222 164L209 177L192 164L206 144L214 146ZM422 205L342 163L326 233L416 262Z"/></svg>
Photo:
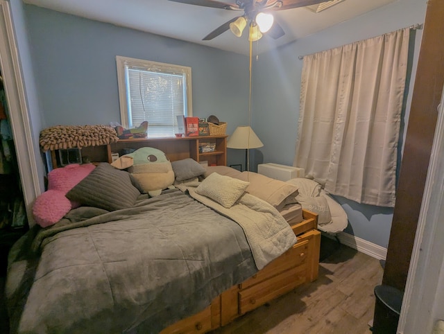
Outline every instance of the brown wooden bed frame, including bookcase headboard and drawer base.
<svg viewBox="0 0 444 334"><path fill-rule="evenodd" d="M226 135L214 137L184 137L179 139L127 139L105 146L91 146L82 149L82 155L91 161L112 162L112 153L122 154L123 148L150 146L162 150L170 161L193 158L196 161L208 160L212 164L226 164ZM199 153L200 141L213 141L216 151ZM50 152L53 168L58 160L55 151ZM318 277L321 233L316 229L318 216L310 211L302 211L302 222L289 222L298 241L291 249L275 258L253 277L234 285L216 297L210 306L196 315L182 319L165 328L161 333L205 333L229 324L237 317L266 304L298 285L314 281Z"/></svg>

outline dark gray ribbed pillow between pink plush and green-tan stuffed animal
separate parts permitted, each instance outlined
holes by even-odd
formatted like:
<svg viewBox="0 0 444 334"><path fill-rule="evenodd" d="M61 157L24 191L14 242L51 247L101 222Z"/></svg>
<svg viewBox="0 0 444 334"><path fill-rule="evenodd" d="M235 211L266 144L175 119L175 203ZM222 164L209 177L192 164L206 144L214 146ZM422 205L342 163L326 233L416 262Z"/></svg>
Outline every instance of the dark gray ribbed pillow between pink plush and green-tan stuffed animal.
<svg viewBox="0 0 444 334"><path fill-rule="evenodd" d="M140 192L130 173L101 163L66 195L83 205L114 211L133 207Z"/></svg>

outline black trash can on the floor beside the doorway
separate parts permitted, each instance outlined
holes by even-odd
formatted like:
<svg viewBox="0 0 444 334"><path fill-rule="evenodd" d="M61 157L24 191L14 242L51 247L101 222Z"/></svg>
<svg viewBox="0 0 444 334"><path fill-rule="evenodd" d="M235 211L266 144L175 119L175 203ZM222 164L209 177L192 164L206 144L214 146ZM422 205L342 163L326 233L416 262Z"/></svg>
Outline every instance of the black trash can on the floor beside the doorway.
<svg viewBox="0 0 444 334"><path fill-rule="evenodd" d="M403 293L389 285L375 287L374 334L396 334L400 319Z"/></svg>

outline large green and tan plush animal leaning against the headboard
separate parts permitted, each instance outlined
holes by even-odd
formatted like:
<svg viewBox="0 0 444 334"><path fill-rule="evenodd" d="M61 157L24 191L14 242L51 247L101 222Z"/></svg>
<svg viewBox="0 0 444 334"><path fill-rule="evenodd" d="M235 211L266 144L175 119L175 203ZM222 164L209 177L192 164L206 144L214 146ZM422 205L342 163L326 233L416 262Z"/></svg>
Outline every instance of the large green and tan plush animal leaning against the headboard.
<svg viewBox="0 0 444 334"><path fill-rule="evenodd" d="M122 155L111 165L117 169L128 168L128 172L150 196L160 195L165 188L175 188L171 162L157 148L139 148L133 153Z"/></svg>

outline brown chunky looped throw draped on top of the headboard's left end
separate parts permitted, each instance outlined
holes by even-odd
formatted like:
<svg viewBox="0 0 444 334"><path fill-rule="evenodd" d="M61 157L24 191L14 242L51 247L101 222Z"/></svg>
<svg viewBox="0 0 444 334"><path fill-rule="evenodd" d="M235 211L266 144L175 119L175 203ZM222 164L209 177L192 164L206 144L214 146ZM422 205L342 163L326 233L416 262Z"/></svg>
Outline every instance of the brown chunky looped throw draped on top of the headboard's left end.
<svg viewBox="0 0 444 334"><path fill-rule="evenodd" d="M56 125L40 132L44 151L107 145L118 140L114 128L107 125Z"/></svg>

